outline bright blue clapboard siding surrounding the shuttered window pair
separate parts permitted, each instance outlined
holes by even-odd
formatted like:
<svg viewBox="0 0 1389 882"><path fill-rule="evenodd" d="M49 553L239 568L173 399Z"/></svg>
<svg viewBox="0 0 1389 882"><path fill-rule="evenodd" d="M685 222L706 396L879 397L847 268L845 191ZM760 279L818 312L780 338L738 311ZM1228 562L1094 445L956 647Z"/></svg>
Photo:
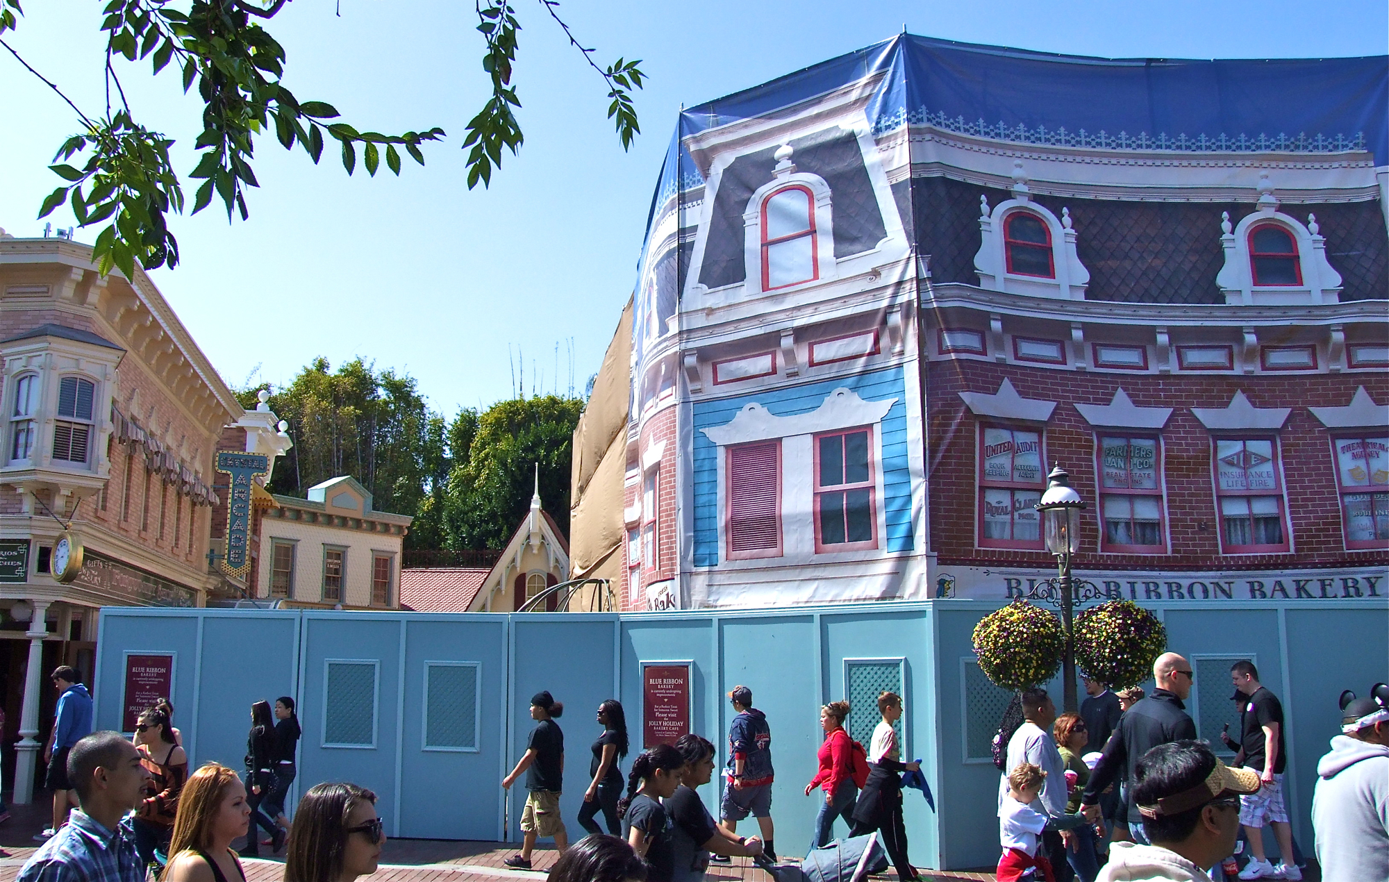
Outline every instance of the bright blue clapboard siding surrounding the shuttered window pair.
<svg viewBox="0 0 1389 882"><path fill-rule="evenodd" d="M693 511L694 511L694 565L714 567L718 564L718 447L704 435L704 429L729 422L749 403L757 403L778 417L808 414L829 397L835 389L851 389L865 401L897 399L883 417L882 432L882 476L883 500L889 553L913 550L911 529L911 468L907 460L907 390L901 367L838 376L815 383L763 389L750 394L717 401L699 401L693 407L694 422L694 469L693 469ZM803 481L810 486L814 475L782 475L782 483ZM782 521L789 517L808 517L808 513L782 511Z"/></svg>

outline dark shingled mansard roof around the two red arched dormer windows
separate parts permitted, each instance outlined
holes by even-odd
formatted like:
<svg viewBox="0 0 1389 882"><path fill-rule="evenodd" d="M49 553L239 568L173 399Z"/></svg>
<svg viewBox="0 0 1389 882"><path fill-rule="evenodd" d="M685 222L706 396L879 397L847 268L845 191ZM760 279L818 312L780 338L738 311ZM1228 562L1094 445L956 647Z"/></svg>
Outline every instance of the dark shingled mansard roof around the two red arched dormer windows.
<svg viewBox="0 0 1389 882"><path fill-rule="evenodd" d="M918 249L931 254L933 282L978 285L979 196L990 206L1013 197L942 176L913 181L913 222ZM1090 271L1086 300L1120 303L1224 303L1215 275L1224 265L1221 213L1231 222L1254 211L1250 203L1140 203L1035 196L1060 215L1070 207L1075 250ZM900 200L899 200L900 204ZM1326 257L1340 274L1340 299L1389 297L1389 235L1375 201L1286 206L1306 222L1317 215Z"/></svg>

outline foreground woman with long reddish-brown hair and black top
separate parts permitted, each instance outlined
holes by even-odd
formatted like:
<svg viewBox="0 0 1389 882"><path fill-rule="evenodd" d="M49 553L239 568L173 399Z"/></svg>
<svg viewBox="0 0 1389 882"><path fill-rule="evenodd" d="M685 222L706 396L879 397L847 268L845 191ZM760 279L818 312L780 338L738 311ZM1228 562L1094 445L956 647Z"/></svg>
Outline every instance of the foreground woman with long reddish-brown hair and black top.
<svg viewBox="0 0 1389 882"><path fill-rule="evenodd" d="M246 882L232 840L246 835L250 817L236 772L204 764L183 785L163 882Z"/></svg>

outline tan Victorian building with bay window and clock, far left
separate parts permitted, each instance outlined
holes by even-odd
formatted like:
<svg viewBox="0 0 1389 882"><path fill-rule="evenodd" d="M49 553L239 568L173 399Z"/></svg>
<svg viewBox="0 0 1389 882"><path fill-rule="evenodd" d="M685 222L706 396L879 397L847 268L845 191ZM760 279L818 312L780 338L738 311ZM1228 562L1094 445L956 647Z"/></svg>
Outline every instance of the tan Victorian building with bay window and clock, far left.
<svg viewBox="0 0 1389 882"><path fill-rule="evenodd" d="M56 699L42 674L92 682L103 606L232 590L210 542L232 501L217 451L258 457L264 481L289 439L242 408L149 276L101 276L69 239L0 231L0 696L22 803Z"/></svg>

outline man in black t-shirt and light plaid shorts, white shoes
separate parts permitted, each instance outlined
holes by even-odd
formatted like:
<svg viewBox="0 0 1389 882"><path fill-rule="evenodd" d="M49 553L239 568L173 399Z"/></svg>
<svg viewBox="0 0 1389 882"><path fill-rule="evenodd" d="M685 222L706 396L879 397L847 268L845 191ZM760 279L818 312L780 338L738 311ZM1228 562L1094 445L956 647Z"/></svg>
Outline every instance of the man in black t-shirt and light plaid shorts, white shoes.
<svg viewBox="0 0 1389 882"><path fill-rule="evenodd" d="M1293 860L1293 828L1288 822L1283 804L1283 769L1288 754L1283 750L1283 706L1278 696L1258 682L1254 663L1236 661L1229 669L1231 681L1240 696L1239 753L1235 765L1258 774L1263 786L1258 793L1239 797L1239 822L1249 839L1250 860L1240 871L1240 879L1301 879ZM1282 863L1276 867L1264 857L1264 822L1274 825Z"/></svg>

